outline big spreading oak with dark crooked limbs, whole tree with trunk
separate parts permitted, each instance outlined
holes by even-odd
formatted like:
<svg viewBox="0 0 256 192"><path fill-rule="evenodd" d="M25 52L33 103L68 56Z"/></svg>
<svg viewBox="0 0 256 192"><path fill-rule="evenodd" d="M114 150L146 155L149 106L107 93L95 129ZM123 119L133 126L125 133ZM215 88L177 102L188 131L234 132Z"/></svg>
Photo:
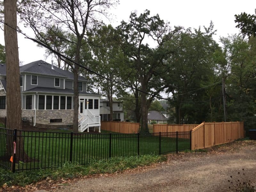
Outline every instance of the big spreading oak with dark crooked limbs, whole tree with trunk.
<svg viewBox="0 0 256 192"><path fill-rule="evenodd" d="M124 54L131 59L131 67L138 72L136 75L142 91L140 132L149 132L148 108L154 97L167 87L159 76L164 72L163 60L169 52L169 49L164 48L165 42L172 38L173 33L179 31L171 31L168 23L165 24L158 14L152 17L149 15L148 10L140 15L132 12L129 23L122 21L117 27L122 37ZM143 43L148 37L156 42L155 48ZM148 96L147 92L152 95Z"/></svg>

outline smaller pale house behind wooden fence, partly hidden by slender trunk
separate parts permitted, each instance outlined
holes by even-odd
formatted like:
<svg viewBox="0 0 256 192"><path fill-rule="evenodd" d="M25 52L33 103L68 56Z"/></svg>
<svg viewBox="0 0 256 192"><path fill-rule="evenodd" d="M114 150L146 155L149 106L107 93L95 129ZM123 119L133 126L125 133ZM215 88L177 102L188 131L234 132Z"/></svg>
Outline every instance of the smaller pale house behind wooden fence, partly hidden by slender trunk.
<svg viewBox="0 0 256 192"><path fill-rule="evenodd" d="M109 101L100 100L100 121L108 121L110 118ZM123 101L113 101L113 119L124 121Z"/></svg>

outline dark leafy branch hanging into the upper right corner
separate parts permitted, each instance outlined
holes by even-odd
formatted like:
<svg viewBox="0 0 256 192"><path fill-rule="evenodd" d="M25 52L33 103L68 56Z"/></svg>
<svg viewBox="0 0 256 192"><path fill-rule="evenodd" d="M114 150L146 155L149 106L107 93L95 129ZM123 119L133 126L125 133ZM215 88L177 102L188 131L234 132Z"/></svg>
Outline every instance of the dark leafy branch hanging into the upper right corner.
<svg viewBox="0 0 256 192"><path fill-rule="evenodd" d="M235 15L235 22L238 23L236 28L239 28L243 36L256 36L256 10L255 15L247 14L245 12Z"/></svg>

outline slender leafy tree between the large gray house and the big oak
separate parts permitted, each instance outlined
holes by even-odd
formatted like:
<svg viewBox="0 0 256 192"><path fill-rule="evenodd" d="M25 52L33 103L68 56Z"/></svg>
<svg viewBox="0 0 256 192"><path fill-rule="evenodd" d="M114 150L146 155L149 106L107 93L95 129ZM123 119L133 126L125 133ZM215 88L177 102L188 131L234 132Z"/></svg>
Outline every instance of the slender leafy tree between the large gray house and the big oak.
<svg viewBox="0 0 256 192"><path fill-rule="evenodd" d="M93 76L95 86L99 86L104 96L108 97L110 108L110 121L113 120L113 95L122 95L124 87L116 82L122 82L124 75L125 57L116 42L116 30L111 26L100 27L89 39L92 54L94 56L90 67L97 73L111 79ZM115 81L115 82L114 82Z"/></svg>

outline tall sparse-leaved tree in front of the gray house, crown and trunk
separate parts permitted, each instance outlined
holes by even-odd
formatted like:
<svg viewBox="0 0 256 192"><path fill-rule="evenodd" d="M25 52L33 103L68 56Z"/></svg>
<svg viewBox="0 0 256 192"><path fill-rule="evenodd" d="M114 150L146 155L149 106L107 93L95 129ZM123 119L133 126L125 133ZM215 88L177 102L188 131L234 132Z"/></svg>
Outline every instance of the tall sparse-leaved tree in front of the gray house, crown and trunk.
<svg viewBox="0 0 256 192"><path fill-rule="evenodd" d="M66 30L76 37L75 41L66 38L76 47L74 59L81 63L81 47L86 31L98 25L99 14L107 16L107 9L116 4L113 0L22 0L20 7L21 18L30 26L37 39L45 42L41 32L53 30L52 26L58 23L62 30ZM58 35L55 33L55 35ZM74 73L74 117L73 129L78 132L78 73L79 67L73 66Z"/></svg>

